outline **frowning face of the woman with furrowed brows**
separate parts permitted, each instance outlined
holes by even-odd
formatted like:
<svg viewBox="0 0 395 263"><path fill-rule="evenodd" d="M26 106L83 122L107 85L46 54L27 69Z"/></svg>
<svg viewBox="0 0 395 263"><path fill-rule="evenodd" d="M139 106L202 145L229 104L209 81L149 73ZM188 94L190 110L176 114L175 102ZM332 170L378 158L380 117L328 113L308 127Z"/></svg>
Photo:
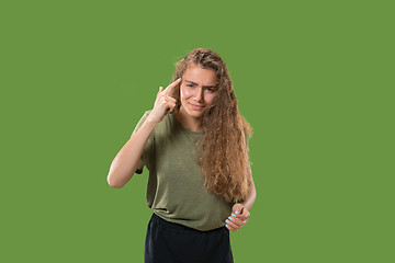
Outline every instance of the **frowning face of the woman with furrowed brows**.
<svg viewBox="0 0 395 263"><path fill-rule="evenodd" d="M216 95L216 72L190 65L182 76L180 87L180 111L191 117L201 117Z"/></svg>

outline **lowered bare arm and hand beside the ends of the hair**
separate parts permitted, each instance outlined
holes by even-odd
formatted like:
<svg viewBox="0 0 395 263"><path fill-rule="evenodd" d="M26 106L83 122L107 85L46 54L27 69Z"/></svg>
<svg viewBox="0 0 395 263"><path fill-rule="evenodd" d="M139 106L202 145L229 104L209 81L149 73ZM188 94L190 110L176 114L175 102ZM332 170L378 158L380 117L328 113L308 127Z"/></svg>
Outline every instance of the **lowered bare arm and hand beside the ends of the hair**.
<svg viewBox="0 0 395 263"><path fill-rule="evenodd" d="M239 230L248 221L248 218L250 216L250 213L248 210L251 209L251 207L255 203L256 196L257 196L257 191L256 191L253 180L252 180L251 168L249 168L248 170L249 170L249 175L251 179L251 185L248 191L248 194L245 199L240 201L239 203L237 203L233 206L232 215L225 221L226 222L225 226L230 231L234 231L234 232Z"/></svg>

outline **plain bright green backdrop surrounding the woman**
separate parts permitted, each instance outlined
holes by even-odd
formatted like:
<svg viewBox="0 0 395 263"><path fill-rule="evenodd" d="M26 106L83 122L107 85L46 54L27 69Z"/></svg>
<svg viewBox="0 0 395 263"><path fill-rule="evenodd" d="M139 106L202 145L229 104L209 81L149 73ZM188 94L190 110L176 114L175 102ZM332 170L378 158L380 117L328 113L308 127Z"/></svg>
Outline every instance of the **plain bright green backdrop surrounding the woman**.
<svg viewBox="0 0 395 263"><path fill-rule="evenodd" d="M235 262L395 262L391 1L10 2L1 262L143 262L147 171L121 190L106 175L198 47L224 58L255 130Z"/></svg>

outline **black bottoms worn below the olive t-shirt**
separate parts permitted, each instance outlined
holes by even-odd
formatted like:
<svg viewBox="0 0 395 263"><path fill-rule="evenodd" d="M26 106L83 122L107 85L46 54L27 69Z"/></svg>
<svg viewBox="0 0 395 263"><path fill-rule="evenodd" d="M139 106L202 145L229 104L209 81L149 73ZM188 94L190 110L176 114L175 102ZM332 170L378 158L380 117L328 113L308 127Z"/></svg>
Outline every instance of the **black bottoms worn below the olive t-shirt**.
<svg viewBox="0 0 395 263"><path fill-rule="evenodd" d="M145 263L229 263L229 230L199 231L153 214L146 236Z"/></svg>

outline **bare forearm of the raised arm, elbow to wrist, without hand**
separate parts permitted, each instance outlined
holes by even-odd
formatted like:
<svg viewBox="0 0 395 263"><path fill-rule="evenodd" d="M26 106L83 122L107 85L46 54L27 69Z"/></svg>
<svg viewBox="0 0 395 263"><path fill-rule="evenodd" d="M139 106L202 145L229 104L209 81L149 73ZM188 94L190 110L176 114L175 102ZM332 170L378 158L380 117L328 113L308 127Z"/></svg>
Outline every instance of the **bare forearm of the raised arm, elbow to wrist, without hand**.
<svg viewBox="0 0 395 263"><path fill-rule="evenodd" d="M108 182L112 187L123 187L135 173L147 140L153 133L156 122L149 117L143 123L142 127L122 147L111 163Z"/></svg>

